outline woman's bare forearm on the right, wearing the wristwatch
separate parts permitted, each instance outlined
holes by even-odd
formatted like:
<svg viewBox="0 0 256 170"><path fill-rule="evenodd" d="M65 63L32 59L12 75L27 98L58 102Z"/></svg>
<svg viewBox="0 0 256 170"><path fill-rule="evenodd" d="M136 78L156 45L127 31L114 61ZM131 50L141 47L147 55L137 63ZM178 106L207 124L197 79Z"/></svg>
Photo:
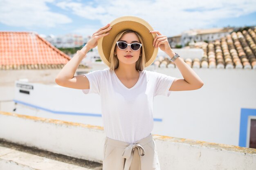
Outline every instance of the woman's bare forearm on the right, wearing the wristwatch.
<svg viewBox="0 0 256 170"><path fill-rule="evenodd" d="M170 51L168 52L168 55L170 58L172 58L175 55L175 53L174 51ZM200 79L200 77L195 73L195 71L193 71L193 69L188 64L186 64L182 59L180 59L180 57L178 57L174 61L174 63L179 68L180 73L182 74L186 82L198 86L204 84L202 79Z"/></svg>

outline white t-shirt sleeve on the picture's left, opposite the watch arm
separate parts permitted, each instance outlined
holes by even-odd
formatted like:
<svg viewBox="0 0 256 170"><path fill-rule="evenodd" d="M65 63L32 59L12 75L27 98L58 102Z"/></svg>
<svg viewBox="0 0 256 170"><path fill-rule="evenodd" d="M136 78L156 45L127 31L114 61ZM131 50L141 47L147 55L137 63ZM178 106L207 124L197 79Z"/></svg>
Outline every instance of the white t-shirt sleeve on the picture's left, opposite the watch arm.
<svg viewBox="0 0 256 170"><path fill-rule="evenodd" d="M100 95L103 72L103 70L97 70L84 74L88 78L90 84L89 89L82 89L84 94L95 93Z"/></svg>

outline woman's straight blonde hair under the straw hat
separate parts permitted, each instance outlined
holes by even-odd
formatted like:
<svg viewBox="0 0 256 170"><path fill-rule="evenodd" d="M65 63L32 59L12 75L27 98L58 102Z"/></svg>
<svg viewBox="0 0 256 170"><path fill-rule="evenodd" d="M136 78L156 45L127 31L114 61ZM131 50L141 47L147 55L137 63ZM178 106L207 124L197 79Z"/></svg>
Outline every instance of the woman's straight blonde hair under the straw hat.
<svg viewBox="0 0 256 170"><path fill-rule="evenodd" d="M143 41L142 41L141 36L137 32L132 31L132 30L122 31L115 38L115 40L112 44L112 47L111 47L111 51L110 51L110 70L115 70L119 66L119 60L117 58L117 55L114 55L114 51L115 51L115 47L117 45L117 41L119 41L121 39L121 37L126 33L135 33L137 35L137 37L139 38L139 42L142 44L141 49L140 49L141 56L139 57L139 59L137 60L135 65L136 65L137 71L143 71L145 68L145 64L146 64L146 57L145 57L145 52L144 52Z"/></svg>

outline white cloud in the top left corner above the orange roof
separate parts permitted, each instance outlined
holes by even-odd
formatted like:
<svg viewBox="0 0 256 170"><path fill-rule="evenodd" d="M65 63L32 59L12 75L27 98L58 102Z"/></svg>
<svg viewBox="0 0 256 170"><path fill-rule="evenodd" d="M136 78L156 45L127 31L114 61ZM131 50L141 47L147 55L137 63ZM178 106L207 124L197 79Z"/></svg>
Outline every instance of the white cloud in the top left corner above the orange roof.
<svg viewBox="0 0 256 170"><path fill-rule="evenodd" d="M51 28L72 22L69 17L50 11L46 2L54 0L0 0L0 22L29 29Z"/></svg>

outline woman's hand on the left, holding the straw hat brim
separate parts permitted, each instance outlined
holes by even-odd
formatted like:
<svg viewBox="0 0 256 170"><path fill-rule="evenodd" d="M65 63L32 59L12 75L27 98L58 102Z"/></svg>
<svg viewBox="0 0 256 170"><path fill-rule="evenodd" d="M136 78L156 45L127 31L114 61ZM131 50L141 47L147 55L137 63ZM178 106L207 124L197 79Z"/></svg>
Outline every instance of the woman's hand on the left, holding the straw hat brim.
<svg viewBox="0 0 256 170"><path fill-rule="evenodd" d="M101 27L97 32L93 33L92 37L85 45L88 46L90 49L93 49L94 47L96 47L98 44L98 39L108 35L108 33L105 33L105 32L111 29L109 26L110 24L107 24L106 26Z"/></svg>

